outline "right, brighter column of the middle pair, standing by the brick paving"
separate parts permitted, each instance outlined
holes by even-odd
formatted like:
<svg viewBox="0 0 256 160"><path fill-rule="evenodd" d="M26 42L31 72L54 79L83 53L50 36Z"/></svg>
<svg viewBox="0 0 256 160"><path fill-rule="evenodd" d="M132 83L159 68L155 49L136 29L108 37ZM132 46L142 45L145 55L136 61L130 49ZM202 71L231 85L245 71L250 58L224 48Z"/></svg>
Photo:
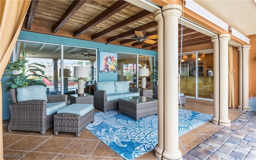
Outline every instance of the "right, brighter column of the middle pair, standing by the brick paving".
<svg viewBox="0 0 256 160"><path fill-rule="evenodd" d="M228 40L230 34L220 34L220 120L221 126L230 126L228 119Z"/></svg>

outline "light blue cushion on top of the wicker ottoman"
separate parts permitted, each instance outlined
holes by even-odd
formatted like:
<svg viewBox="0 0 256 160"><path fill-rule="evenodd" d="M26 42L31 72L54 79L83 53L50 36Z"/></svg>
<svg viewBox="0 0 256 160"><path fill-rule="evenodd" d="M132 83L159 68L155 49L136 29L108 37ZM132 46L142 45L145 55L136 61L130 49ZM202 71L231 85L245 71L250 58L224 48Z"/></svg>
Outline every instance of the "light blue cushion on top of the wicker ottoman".
<svg viewBox="0 0 256 160"><path fill-rule="evenodd" d="M93 104L70 104L69 106L58 110L57 113L73 113L80 116L90 112L93 109Z"/></svg>

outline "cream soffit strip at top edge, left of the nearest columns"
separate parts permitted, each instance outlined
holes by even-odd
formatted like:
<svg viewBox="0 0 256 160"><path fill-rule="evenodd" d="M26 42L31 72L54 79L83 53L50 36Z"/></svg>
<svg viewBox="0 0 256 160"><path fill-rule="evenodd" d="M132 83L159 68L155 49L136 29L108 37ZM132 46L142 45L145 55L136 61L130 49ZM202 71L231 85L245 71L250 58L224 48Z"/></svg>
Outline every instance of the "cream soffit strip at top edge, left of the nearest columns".
<svg viewBox="0 0 256 160"><path fill-rule="evenodd" d="M125 0L126 2L129 2L130 4L134 4L135 6L138 6L140 8L143 8L144 10L148 10L149 12L154 13L156 10L161 10L160 7L146 1L146 0Z"/></svg>

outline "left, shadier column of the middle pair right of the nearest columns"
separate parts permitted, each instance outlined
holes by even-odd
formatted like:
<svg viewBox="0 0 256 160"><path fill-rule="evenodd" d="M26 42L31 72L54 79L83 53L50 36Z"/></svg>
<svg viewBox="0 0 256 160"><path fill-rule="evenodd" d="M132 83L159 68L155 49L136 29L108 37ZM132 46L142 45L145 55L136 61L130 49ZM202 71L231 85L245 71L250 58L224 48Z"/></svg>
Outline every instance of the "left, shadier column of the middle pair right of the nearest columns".
<svg viewBox="0 0 256 160"><path fill-rule="evenodd" d="M219 39L218 36L212 36L213 42L213 66L214 66L214 109L212 123L219 124L220 119L220 67L219 67Z"/></svg>

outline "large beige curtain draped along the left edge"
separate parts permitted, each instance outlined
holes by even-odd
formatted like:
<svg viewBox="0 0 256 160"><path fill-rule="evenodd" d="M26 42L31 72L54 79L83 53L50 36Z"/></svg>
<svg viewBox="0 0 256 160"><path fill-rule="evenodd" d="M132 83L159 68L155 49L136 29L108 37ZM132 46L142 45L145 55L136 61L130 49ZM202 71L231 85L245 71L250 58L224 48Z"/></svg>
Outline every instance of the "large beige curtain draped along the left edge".
<svg viewBox="0 0 256 160"><path fill-rule="evenodd" d="M0 79L20 34L30 0L0 0ZM0 85L0 155L3 154L2 85ZM0 156L1 159L2 156Z"/></svg>

